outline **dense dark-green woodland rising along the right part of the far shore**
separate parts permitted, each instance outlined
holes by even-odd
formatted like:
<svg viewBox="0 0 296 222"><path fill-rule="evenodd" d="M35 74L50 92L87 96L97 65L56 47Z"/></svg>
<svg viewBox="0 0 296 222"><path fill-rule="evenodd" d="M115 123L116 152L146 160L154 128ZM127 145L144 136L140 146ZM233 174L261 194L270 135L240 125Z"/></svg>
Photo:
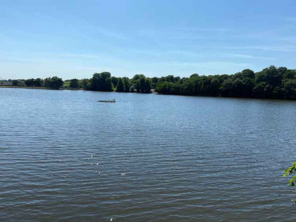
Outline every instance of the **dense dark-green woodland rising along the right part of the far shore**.
<svg viewBox="0 0 296 222"><path fill-rule="evenodd" d="M245 69L233 75L198 75L158 82L157 92L175 95L231 96L296 99L296 70L273 65L254 73Z"/></svg>

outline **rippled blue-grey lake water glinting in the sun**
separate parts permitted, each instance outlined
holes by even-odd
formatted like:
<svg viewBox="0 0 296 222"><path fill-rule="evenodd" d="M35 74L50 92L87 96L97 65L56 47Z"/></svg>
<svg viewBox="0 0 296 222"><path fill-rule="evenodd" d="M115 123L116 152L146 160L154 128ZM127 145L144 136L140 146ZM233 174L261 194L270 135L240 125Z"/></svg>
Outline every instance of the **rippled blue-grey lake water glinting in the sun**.
<svg viewBox="0 0 296 222"><path fill-rule="evenodd" d="M295 221L281 177L295 114L293 101L0 88L0 221Z"/></svg>

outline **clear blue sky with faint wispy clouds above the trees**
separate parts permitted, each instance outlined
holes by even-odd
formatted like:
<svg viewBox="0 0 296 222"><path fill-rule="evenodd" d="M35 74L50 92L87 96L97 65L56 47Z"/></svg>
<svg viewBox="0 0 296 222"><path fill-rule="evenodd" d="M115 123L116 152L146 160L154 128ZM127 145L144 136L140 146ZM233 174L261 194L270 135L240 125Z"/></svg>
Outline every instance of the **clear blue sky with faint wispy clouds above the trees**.
<svg viewBox="0 0 296 222"><path fill-rule="evenodd" d="M296 1L2 1L0 77L296 68Z"/></svg>

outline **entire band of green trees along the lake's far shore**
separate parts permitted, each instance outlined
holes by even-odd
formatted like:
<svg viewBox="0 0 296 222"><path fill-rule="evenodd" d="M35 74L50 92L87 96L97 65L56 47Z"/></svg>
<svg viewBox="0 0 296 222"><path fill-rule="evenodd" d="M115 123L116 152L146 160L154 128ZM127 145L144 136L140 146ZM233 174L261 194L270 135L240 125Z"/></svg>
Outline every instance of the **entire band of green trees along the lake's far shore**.
<svg viewBox="0 0 296 222"><path fill-rule="evenodd" d="M0 86L20 86L50 89L85 89L172 95L201 95L296 100L296 70L273 65L254 73L245 69L233 75L199 75L190 77L167 75L148 78L137 74L133 78L111 76L109 72L94 73L92 78L63 81L57 76L45 79L1 80Z"/></svg>

